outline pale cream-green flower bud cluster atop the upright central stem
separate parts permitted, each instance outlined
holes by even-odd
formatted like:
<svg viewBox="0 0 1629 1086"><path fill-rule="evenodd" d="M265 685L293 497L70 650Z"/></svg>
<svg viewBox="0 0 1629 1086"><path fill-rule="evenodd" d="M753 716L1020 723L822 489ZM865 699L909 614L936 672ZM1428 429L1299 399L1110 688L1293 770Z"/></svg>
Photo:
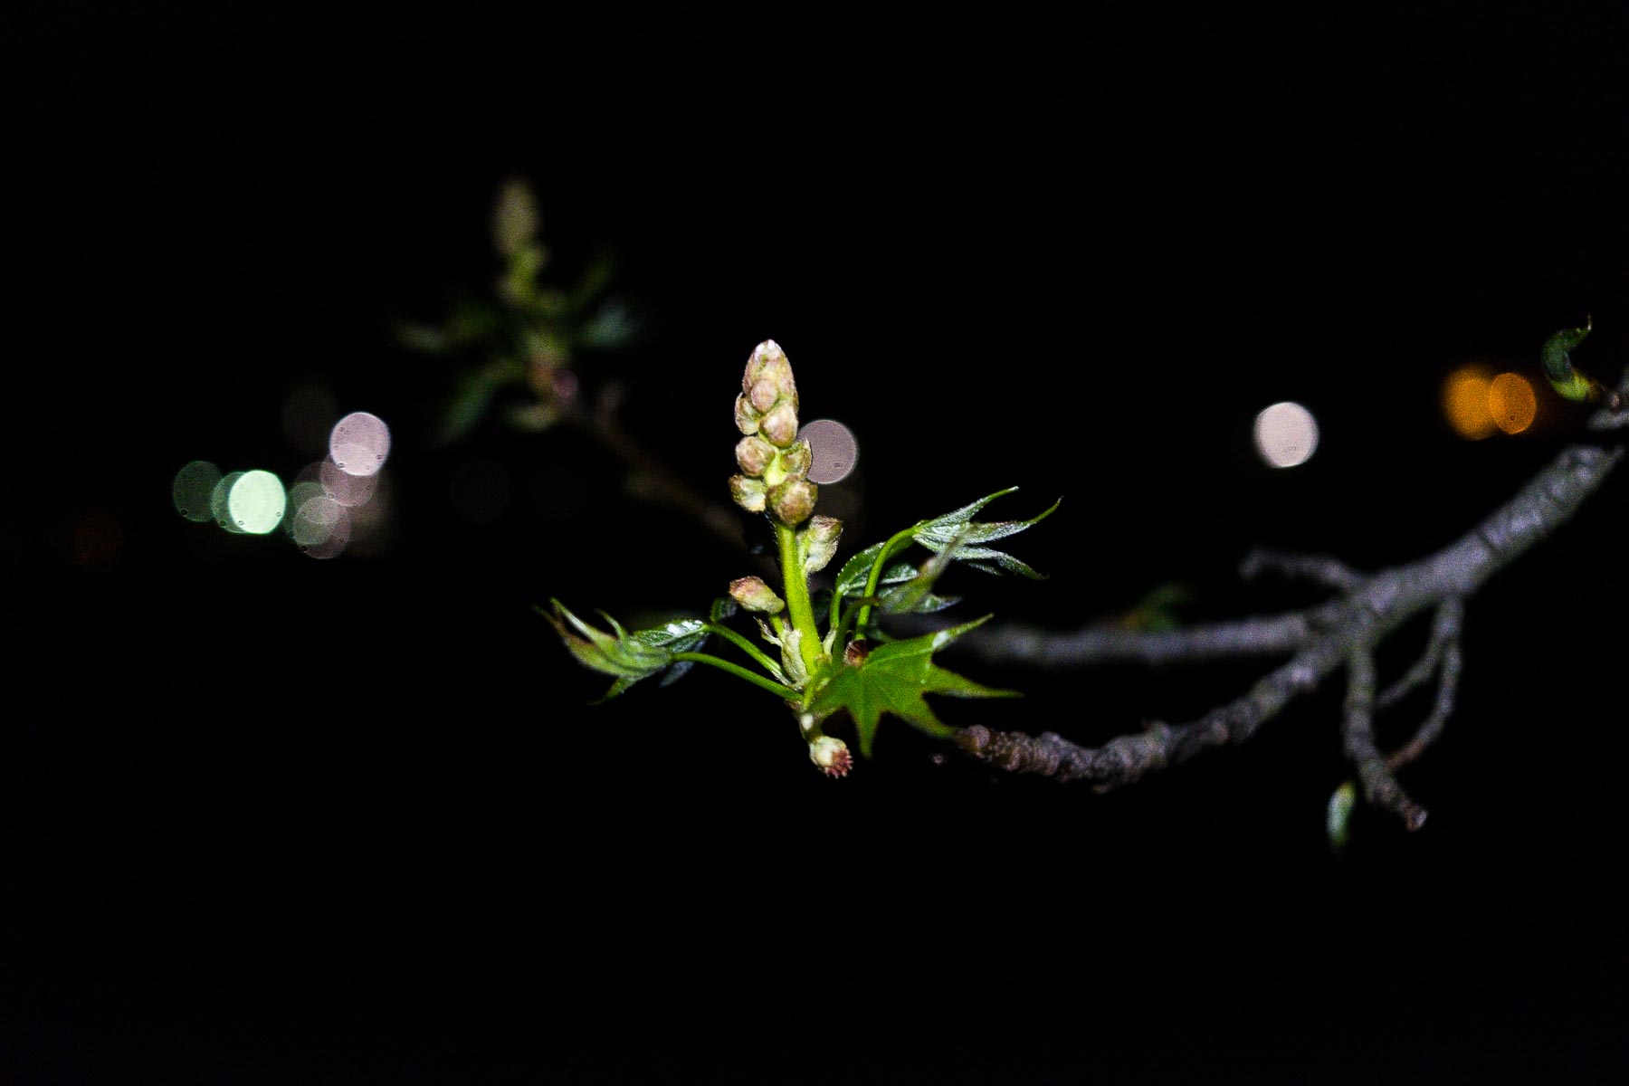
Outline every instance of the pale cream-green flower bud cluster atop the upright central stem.
<svg viewBox="0 0 1629 1086"><path fill-rule="evenodd" d="M798 440L798 386L792 363L775 340L753 350L735 397L735 425L741 441L735 462L741 474L730 479L730 495L748 513L769 513L795 528L814 513L818 488L808 480L810 443Z"/></svg>

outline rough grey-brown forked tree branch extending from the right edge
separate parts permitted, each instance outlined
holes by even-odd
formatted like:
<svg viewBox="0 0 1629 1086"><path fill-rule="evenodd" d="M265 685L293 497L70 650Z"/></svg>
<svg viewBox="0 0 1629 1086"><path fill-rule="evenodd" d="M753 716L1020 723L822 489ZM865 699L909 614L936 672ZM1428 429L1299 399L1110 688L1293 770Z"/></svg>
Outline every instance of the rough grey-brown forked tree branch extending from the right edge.
<svg viewBox="0 0 1629 1086"><path fill-rule="evenodd" d="M1629 376L1619 392L1629 394ZM1588 427L1595 431L1629 427L1629 412L1603 409ZM1142 731L1098 747L1080 746L1052 731L1030 736L982 725L961 729L956 742L969 755L1015 773L1083 780L1098 791L1108 791L1201 751L1249 739L1295 697L1344 669L1342 749L1362 782L1363 798L1398 814L1407 829L1419 829L1425 822L1425 809L1403 791L1394 772L1414 762L1442 734L1453 710L1463 663L1464 601L1487 578L1561 528L1600 488L1622 456L1622 446L1567 446L1464 536L1417 562L1378 573L1359 573L1326 557L1258 552L1246 558L1245 576L1271 568L1315 580L1339 593L1303 611L1158 633L1114 625L1072 633L1046 633L1033 627L976 630L958 646L989 661L1039 666L1111 661L1173 664L1279 655L1289 655L1289 661L1269 671L1243 697L1196 721L1153 721ZM1434 620L1424 655L1398 682L1377 694L1375 650L1427 611L1434 612ZM1375 712L1394 705L1434 676L1437 698L1430 715L1409 742L1390 755L1383 754L1375 742Z"/></svg>

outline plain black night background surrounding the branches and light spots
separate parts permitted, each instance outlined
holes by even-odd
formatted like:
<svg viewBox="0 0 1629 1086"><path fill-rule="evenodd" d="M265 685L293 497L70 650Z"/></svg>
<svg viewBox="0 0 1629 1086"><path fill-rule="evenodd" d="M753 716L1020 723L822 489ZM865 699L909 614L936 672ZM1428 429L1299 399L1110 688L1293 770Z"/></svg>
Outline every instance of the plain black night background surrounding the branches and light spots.
<svg viewBox="0 0 1629 1086"><path fill-rule="evenodd" d="M585 383L699 488L774 337L862 440L852 544L1064 495L969 615L1298 606L1240 557L1417 557L1575 433L1453 438L1453 365L1629 347L1629 28L1536 8L8 10L0 1081L1618 1081L1622 480L1471 601L1425 829L1336 858L1334 687L1103 798L898 721L828 782L717 674L586 708L533 604L743 558L582 438L435 446L389 337L484 290L523 174L645 319ZM393 427L389 545L179 519L191 459L298 471L311 383ZM1280 399L1323 444L1271 472ZM1253 679L963 669L1028 697L946 720L1082 739Z"/></svg>

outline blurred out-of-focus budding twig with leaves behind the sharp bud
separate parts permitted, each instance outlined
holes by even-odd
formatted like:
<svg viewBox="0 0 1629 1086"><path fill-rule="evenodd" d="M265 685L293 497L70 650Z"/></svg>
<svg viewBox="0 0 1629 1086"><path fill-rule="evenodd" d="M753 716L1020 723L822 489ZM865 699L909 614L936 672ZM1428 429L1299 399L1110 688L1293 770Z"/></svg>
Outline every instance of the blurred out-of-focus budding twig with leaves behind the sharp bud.
<svg viewBox="0 0 1629 1086"><path fill-rule="evenodd" d="M503 262L494 298L459 301L441 324L396 327L402 347L459 363L437 440L456 441L489 417L525 433L569 427L624 464L630 495L678 510L743 549L735 511L700 497L622 428L622 383L603 381L593 397L586 396L582 357L630 345L639 319L609 293L616 272L609 256L596 257L572 288L544 283L549 251L539 231L531 186L503 182L492 210L492 244Z"/></svg>

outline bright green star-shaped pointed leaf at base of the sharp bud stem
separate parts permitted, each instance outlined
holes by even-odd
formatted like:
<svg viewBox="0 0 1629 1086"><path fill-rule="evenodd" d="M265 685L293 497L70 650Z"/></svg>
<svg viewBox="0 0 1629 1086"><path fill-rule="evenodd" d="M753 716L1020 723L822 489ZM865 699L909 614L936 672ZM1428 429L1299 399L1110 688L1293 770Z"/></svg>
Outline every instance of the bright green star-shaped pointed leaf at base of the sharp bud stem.
<svg viewBox="0 0 1629 1086"><path fill-rule="evenodd" d="M878 645L858 664L834 664L831 677L810 702L810 712L816 720L837 710L847 712L860 733L860 752L865 755L872 754L876 723L883 713L893 713L932 736L953 734L955 729L933 715L924 700L925 694L1016 697L1015 690L994 690L933 663L933 653L987 617L906 642Z"/></svg>

